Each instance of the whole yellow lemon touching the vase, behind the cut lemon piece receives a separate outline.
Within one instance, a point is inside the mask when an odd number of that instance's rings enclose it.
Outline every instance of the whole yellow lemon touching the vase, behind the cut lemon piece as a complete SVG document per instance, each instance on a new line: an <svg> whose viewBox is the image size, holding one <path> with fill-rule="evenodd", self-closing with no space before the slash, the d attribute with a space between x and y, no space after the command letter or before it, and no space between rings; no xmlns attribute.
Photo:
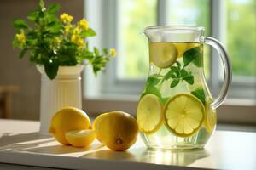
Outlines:
<svg viewBox="0 0 256 170"><path fill-rule="evenodd" d="M83 130L90 127L87 114L75 107L67 107L57 111L51 119L49 133L61 144L68 144L65 133L71 130Z"/></svg>

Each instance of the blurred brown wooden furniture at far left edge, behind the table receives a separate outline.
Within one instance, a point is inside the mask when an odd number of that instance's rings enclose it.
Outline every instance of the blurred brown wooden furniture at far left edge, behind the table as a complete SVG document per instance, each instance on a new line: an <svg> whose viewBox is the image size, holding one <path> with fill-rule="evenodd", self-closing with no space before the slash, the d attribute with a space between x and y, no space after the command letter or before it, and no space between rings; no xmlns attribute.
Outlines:
<svg viewBox="0 0 256 170"><path fill-rule="evenodd" d="M0 118L9 118L11 94L20 91L19 86L0 86Z"/></svg>

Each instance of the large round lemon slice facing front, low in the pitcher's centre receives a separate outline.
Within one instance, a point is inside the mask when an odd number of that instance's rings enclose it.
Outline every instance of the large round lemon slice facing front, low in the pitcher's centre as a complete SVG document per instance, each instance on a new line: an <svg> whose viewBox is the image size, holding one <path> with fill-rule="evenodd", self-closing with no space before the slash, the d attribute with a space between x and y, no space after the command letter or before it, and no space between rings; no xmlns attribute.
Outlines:
<svg viewBox="0 0 256 170"><path fill-rule="evenodd" d="M165 106L166 127L178 137L192 136L204 120L204 105L191 94L177 94Z"/></svg>

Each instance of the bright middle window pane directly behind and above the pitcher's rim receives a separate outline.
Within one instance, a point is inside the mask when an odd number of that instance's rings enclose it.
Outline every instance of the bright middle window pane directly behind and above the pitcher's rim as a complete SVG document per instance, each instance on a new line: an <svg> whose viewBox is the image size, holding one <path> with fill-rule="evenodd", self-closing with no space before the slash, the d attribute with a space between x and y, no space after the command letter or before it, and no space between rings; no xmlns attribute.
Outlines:
<svg viewBox="0 0 256 170"><path fill-rule="evenodd" d="M210 0L169 0L168 25L204 26L205 34L210 36ZM210 76L210 48L204 46L204 70L207 79Z"/></svg>

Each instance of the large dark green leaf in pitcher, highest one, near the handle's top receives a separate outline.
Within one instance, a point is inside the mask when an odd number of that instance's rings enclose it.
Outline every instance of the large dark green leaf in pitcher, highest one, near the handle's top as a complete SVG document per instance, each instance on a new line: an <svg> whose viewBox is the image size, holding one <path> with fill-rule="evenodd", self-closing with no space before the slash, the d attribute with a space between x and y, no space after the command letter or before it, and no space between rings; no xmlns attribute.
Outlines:
<svg viewBox="0 0 256 170"><path fill-rule="evenodd" d="M193 63L198 66L201 67L202 66L202 50L200 47L196 47L196 48L191 48L188 51L186 51L183 54L183 63L184 63L184 67L189 65L190 62Z"/></svg>

